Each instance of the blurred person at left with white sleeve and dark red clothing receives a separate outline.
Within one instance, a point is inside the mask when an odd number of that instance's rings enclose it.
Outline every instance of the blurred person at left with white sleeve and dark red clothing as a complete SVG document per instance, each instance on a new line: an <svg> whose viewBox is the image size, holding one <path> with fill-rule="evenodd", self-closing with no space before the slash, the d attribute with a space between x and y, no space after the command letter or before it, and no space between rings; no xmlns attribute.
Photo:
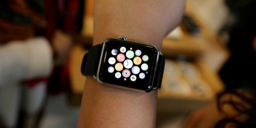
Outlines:
<svg viewBox="0 0 256 128"><path fill-rule="evenodd" d="M58 84L67 82L72 36L81 29L82 12L82 0L0 1L2 127L37 127L47 92L57 93L63 89Z"/></svg>

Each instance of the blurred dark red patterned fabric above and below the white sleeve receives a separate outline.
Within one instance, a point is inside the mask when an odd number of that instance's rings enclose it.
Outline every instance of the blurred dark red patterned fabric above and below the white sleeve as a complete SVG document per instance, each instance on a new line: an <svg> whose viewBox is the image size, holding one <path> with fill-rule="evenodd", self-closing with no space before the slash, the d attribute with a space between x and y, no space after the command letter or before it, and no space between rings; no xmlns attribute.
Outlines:
<svg viewBox="0 0 256 128"><path fill-rule="evenodd" d="M51 41L57 29L75 35L82 28L83 6L84 0L0 0L0 45L36 36ZM22 83L33 87L50 79L49 83L56 84L53 81L69 78L67 65L54 68L51 78L23 80Z"/></svg>

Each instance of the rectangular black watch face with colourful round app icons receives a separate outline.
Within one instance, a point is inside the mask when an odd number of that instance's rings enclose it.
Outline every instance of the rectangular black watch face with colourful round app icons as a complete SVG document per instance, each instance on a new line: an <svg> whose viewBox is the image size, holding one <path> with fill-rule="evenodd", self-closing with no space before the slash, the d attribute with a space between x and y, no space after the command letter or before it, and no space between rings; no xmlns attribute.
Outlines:
<svg viewBox="0 0 256 128"><path fill-rule="evenodd" d="M152 88L158 49L141 43L108 39L104 43L98 79L143 91Z"/></svg>

